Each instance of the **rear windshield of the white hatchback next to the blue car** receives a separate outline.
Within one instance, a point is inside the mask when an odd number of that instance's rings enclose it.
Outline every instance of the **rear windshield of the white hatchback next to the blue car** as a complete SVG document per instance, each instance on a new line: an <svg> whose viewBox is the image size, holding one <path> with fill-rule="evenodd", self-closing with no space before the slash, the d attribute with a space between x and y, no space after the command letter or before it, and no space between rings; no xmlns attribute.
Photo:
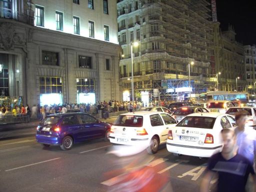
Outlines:
<svg viewBox="0 0 256 192"><path fill-rule="evenodd" d="M119 115L114 121L116 126L136 126L140 127L143 124L143 117L137 115Z"/></svg>

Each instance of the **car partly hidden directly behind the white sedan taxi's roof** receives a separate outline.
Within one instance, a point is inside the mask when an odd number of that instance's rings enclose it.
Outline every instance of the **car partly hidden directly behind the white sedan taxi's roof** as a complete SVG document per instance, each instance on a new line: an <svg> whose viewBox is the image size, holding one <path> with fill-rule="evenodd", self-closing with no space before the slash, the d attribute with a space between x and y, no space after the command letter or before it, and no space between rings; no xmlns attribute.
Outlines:
<svg viewBox="0 0 256 192"><path fill-rule="evenodd" d="M186 115L194 112L209 112L208 109L199 106L182 106L177 108L173 113L172 117L176 120L182 120Z"/></svg>

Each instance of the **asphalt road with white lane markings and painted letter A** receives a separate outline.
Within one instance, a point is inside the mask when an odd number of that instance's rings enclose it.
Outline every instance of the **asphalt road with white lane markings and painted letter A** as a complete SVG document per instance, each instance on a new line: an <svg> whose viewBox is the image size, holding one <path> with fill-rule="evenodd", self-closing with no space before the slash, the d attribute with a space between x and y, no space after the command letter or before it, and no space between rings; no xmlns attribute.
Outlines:
<svg viewBox="0 0 256 192"><path fill-rule="evenodd" d="M140 155L118 157L107 154L112 145L103 139L63 151L58 146L42 147L27 131L21 137L0 140L0 191L110 191L129 171L125 166L141 155L141 167L166 176L173 191L198 191L207 162L205 158L174 156L165 145L153 155L142 151ZM215 184L213 181L212 188Z"/></svg>

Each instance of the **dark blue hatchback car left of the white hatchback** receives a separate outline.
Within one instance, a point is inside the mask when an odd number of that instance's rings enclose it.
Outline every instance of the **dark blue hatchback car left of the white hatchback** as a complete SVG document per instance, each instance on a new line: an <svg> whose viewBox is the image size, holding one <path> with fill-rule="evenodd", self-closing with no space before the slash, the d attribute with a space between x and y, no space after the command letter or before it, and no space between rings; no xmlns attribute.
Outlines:
<svg viewBox="0 0 256 192"><path fill-rule="evenodd" d="M92 138L109 140L111 124L87 113L61 113L46 116L36 128L36 140L43 146L59 145L71 149L73 143Z"/></svg>

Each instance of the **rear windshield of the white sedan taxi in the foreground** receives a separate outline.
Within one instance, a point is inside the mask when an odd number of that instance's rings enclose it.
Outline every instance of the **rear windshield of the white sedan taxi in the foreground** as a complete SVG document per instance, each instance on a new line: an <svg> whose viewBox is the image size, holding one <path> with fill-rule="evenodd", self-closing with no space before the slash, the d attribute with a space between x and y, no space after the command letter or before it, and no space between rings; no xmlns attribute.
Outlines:
<svg viewBox="0 0 256 192"><path fill-rule="evenodd" d="M186 116L176 126L186 126L194 128L212 128L215 122L214 117Z"/></svg>

